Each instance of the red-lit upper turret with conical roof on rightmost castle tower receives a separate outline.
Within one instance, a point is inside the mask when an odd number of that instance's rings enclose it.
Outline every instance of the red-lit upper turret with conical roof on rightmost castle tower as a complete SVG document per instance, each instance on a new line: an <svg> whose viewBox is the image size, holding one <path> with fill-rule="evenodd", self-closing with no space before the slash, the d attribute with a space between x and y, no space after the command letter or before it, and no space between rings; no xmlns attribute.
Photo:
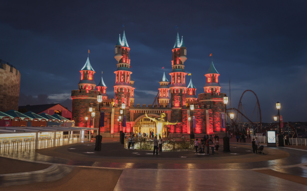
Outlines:
<svg viewBox="0 0 307 191"><path fill-rule="evenodd" d="M204 86L204 90L206 93L211 93L211 95L214 94L219 94L220 92L220 85L218 83L218 76L219 73L216 71L213 62L211 62L211 65L205 74L207 78L207 83Z"/></svg>

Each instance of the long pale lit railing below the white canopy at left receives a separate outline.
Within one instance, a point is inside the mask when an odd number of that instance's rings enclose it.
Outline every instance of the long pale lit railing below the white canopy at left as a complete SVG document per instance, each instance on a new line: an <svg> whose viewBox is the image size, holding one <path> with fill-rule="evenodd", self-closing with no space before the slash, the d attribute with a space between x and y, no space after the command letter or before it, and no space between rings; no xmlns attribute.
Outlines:
<svg viewBox="0 0 307 191"><path fill-rule="evenodd" d="M41 137L38 141L35 138L31 138L28 140L15 139L11 141L2 141L0 142L0 153L2 152L22 152L36 149L44 149L50 147L63 146L74 143L84 143L90 142L91 140L96 140L96 134L84 134L84 136L80 136L80 134L72 134L72 135L62 135L57 136L54 140L53 137Z"/></svg>

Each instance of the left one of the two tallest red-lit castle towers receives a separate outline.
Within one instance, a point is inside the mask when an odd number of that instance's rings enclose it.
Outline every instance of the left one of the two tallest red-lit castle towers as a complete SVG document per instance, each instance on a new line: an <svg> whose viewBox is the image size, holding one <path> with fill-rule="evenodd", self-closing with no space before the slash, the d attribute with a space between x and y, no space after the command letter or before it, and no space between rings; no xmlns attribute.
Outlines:
<svg viewBox="0 0 307 191"><path fill-rule="evenodd" d="M123 39L120 41L120 37L115 45L115 59L117 60L114 92L115 92L115 104L125 103L126 106L130 106L130 94L132 86L130 84L130 56L129 56L129 45L126 40L125 31Z"/></svg>

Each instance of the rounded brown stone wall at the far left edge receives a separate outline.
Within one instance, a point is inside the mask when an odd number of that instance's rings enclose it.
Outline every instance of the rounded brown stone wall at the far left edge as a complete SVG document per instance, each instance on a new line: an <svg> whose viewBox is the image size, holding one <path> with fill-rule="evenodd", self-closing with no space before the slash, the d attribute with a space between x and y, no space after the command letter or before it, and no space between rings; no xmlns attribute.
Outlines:
<svg viewBox="0 0 307 191"><path fill-rule="evenodd" d="M0 68L0 111L18 111L20 72L9 66L2 64Z"/></svg>

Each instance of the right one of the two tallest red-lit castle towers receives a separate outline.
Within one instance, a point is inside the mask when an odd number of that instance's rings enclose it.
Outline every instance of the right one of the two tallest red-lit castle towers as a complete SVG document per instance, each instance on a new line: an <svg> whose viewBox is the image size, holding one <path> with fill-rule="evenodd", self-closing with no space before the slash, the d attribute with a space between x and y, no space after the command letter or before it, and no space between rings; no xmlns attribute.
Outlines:
<svg viewBox="0 0 307 191"><path fill-rule="evenodd" d="M173 48L172 72L171 75L171 107L183 107L186 102L187 86L185 82L184 62L187 57L187 48L183 42L183 37L180 41L179 34Z"/></svg>

